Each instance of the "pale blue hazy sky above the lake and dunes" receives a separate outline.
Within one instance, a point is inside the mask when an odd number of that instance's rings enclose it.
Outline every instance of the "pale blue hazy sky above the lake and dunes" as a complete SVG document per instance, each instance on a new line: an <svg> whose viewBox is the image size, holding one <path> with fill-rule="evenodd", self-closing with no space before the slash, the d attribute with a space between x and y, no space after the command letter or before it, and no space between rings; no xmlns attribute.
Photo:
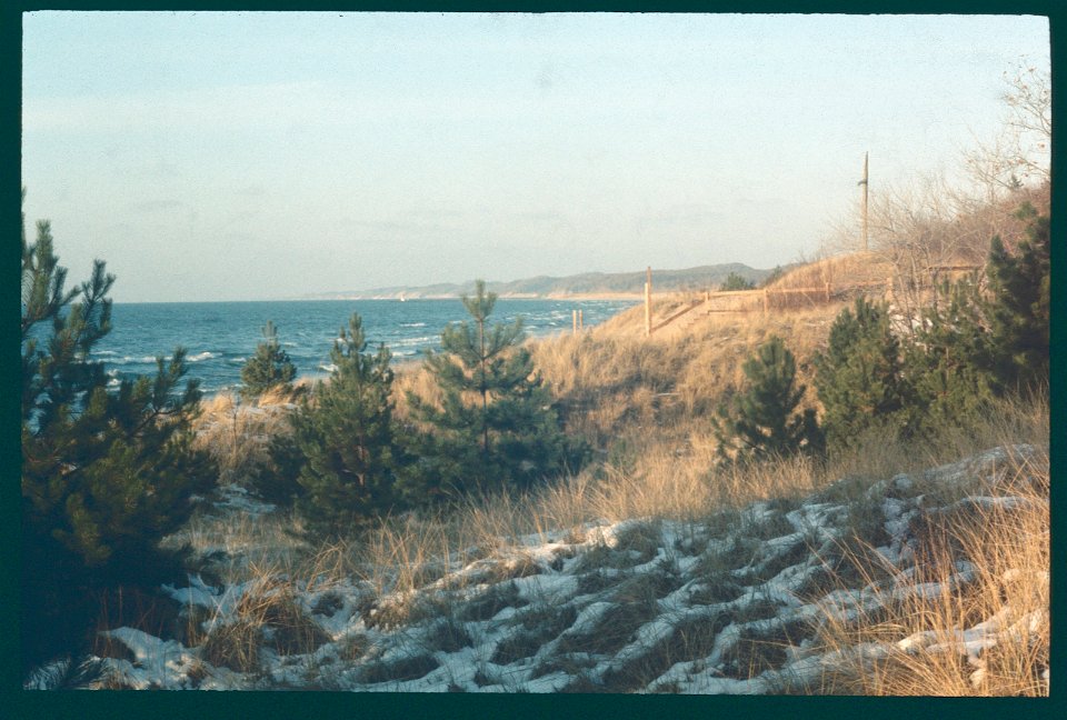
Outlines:
<svg viewBox="0 0 1067 720"><path fill-rule="evenodd" d="M1013 16L30 12L28 233L117 302L811 258L1003 127Z"/></svg>

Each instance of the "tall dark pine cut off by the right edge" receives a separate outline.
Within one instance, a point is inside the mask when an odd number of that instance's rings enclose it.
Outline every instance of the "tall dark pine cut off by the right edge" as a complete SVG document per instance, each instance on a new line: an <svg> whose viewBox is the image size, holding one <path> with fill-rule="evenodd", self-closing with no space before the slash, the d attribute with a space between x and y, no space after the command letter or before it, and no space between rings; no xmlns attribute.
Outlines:
<svg viewBox="0 0 1067 720"><path fill-rule="evenodd" d="M1049 218L1038 214L1029 203L1016 214L1028 221L1027 239L1011 254L995 237L987 266L995 298L988 310L997 349L994 374L1011 391L1048 382L1051 288Z"/></svg>

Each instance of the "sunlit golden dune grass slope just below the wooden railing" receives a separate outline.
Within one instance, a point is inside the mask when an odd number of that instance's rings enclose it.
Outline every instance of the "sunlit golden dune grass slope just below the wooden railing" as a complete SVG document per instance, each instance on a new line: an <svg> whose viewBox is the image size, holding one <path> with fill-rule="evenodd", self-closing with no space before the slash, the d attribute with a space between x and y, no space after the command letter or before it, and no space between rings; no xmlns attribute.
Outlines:
<svg viewBox="0 0 1067 720"><path fill-rule="evenodd" d="M841 303L789 312L704 314L685 334L645 338L640 308L578 336L534 343L534 360L567 430L605 449L616 439L650 434L686 442L707 430L720 402L741 388L745 361L771 336L798 359L797 382L817 403L808 359L826 343Z"/></svg>

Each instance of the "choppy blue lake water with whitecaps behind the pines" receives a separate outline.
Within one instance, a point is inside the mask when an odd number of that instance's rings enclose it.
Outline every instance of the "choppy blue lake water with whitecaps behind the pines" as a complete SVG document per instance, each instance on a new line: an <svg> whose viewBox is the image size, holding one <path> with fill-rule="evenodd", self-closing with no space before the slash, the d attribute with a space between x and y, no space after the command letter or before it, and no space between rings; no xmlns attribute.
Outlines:
<svg viewBox="0 0 1067 720"><path fill-rule="evenodd" d="M635 304L629 300L500 299L490 322L521 317L530 337L571 329L571 312L581 310L587 327ZM462 302L450 300L308 300L266 302L116 303L111 332L93 351L113 382L156 371L156 356L169 357L176 346L187 351L187 377L199 378L206 393L240 383L241 367L262 341L268 320L297 366L298 377L329 374L330 349L352 312L363 320L369 348L383 342L396 360L417 360L439 350L449 322L469 320Z"/></svg>

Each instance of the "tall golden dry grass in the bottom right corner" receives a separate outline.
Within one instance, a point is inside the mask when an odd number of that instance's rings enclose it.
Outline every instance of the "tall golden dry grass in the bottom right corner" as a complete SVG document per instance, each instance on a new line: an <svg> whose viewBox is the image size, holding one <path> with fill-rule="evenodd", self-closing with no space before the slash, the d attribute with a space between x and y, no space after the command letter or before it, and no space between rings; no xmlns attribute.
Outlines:
<svg viewBox="0 0 1067 720"><path fill-rule="evenodd" d="M1026 478L1010 483L1013 503L974 502L927 520L916 572L894 587L882 613L824 629L825 648L844 660L822 691L1048 694L1047 457L1013 470ZM973 578L959 586L961 567Z"/></svg>

